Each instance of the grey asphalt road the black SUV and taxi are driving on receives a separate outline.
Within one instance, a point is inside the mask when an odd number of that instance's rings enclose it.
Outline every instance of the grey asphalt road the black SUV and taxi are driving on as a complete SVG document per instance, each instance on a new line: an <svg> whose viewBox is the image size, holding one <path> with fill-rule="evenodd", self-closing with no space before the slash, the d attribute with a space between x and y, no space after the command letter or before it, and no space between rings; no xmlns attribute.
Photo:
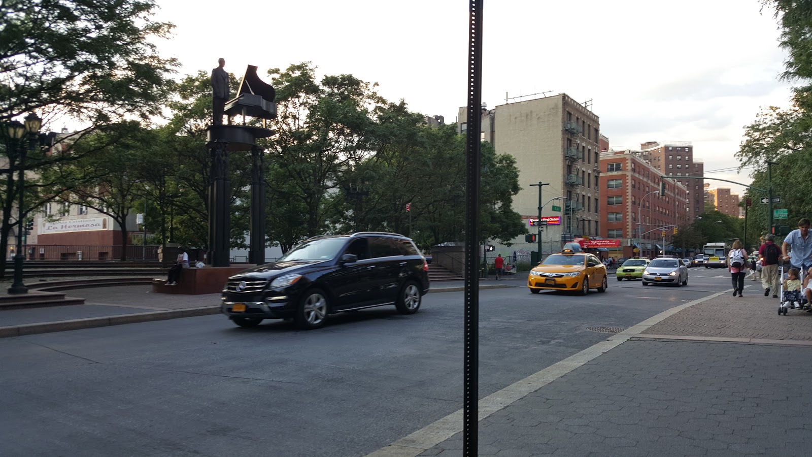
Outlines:
<svg viewBox="0 0 812 457"><path fill-rule="evenodd" d="M481 396L609 336L588 327L730 288L721 270L690 273L680 288L611 278L587 297L483 290ZM462 302L428 294L413 316L366 310L313 331L204 316L6 338L0 455L362 456L462 407Z"/></svg>

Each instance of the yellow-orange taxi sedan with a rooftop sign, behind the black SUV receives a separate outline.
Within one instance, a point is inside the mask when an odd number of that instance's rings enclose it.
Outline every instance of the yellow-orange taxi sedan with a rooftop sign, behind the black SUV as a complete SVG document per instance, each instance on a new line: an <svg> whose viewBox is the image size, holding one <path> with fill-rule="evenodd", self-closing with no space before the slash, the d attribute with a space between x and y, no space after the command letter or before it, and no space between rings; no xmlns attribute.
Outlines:
<svg viewBox="0 0 812 457"><path fill-rule="evenodd" d="M574 290L581 295L607 290L607 268L595 255L579 248L564 245L559 254L548 255L542 263L530 270L527 287L533 294L542 289Z"/></svg>

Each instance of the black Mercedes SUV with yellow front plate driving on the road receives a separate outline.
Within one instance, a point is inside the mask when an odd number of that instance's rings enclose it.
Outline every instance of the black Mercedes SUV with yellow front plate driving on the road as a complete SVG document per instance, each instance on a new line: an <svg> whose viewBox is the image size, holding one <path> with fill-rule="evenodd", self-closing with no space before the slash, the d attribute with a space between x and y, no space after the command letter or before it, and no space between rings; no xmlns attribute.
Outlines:
<svg viewBox="0 0 812 457"><path fill-rule="evenodd" d="M408 237L325 235L229 277L220 311L241 327L292 319L300 329L317 329L341 311L394 304L414 314L428 291L429 265Z"/></svg>

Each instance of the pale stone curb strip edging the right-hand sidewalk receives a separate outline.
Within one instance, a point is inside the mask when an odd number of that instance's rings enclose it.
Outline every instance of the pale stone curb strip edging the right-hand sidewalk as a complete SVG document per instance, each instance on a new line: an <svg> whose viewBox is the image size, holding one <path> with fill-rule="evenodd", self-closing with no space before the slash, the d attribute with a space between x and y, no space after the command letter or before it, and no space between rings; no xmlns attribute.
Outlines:
<svg viewBox="0 0 812 457"><path fill-rule="evenodd" d="M698 298L691 302L681 304L677 307L672 307L666 311L652 316L649 319L642 321L637 325L633 325L623 332L616 333L608 337L603 342L581 350L576 355L571 355L568 358L561 360L558 363L553 363L551 366L544 368L541 371L535 372L530 376L525 377L520 381L508 385L502 390L497 390L493 394L482 398L478 403L479 419L483 420L486 417L494 414L511 403L516 402L520 398L525 398L527 395L541 389L552 381L557 380L559 377L564 376L568 372L581 367L584 363L590 362L597 358L599 355L620 346L624 342L637 337L638 334L650 328L654 324L659 324L660 321L667 317L673 316L676 313L684 310L687 307L692 307L711 298L719 297L719 295L728 294L732 289L723 290L715 294L707 295L703 298ZM389 446L384 446L375 450L366 457L417 457L426 450L437 446L441 442L446 441L448 438L454 436L456 433L462 431L463 410L457 410L428 424L417 432L411 433L406 437L400 438L398 441L391 443Z"/></svg>

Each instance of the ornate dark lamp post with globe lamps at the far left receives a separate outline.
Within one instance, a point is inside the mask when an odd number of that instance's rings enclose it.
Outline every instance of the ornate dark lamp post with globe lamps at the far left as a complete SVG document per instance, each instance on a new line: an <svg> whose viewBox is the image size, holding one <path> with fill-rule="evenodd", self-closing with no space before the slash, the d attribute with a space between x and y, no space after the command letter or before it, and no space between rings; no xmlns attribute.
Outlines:
<svg viewBox="0 0 812 457"><path fill-rule="evenodd" d="M23 216L25 214L23 205L25 197L25 159L27 148L20 145L20 139L24 134L28 134L28 148L34 150L37 146L37 136L40 133L42 120L39 116L31 113L25 117L25 125L19 122L11 123L7 126L8 136L11 138L11 143L19 153L19 161L17 167L19 168L19 178L17 178L19 188L19 202L17 203L17 252L14 256L14 283L8 289L9 294L28 294L28 287L23 284L23 261L25 260L25 253L23 252L23 237L25 233L25 225L23 224Z"/></svg>

